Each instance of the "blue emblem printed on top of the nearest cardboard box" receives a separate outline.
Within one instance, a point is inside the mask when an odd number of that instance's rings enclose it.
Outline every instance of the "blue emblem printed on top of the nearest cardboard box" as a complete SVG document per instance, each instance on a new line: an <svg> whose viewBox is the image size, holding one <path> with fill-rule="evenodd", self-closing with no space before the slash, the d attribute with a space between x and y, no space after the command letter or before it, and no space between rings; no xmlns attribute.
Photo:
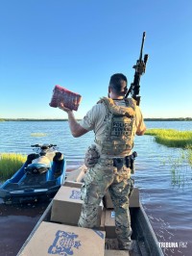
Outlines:
<svg viewBox="0 0 192 256"><path fill-rule="evenodd" d="M78 235L70 232L58 231L54 243L49 247L49 254L73 255L74 248L79 248L82 244L77 241Z"/></svg>

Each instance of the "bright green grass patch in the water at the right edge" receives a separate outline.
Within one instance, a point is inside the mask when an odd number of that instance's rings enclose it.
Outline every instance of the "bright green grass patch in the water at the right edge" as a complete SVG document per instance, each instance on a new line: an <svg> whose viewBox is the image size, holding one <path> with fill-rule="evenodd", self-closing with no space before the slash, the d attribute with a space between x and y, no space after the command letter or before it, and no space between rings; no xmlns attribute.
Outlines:
<svg viewBox="0 0 192 256"><path fill-rule="evenodd" d="M149 129L145 135L155 136L157 143L171 147L191 147L192 131L177 131L174 129Z"/></svg>

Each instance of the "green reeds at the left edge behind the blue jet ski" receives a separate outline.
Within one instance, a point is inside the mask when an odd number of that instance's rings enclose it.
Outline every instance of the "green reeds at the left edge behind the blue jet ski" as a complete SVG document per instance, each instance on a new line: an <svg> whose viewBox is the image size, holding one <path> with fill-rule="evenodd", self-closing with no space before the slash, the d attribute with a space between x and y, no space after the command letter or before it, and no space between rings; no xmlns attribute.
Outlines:
<svg viewBox="0 0 192 256"><path fill-rule="evenodd" d="M27 156L15 153L2 153L0 155L0 180L5 181L12 177L26 161Z"/></svg>

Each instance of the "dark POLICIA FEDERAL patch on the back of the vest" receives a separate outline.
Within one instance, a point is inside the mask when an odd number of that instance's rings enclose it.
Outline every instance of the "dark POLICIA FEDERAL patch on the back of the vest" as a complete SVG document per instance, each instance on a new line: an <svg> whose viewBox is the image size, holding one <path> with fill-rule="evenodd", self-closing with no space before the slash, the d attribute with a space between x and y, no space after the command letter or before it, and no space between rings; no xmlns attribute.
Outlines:
<svg viewBox="0 0 192 256"><path fill-rule="evenodd" d="M122 137L132 135L132 119L126 116L114 116L111 122L111 136Z"/></svg>

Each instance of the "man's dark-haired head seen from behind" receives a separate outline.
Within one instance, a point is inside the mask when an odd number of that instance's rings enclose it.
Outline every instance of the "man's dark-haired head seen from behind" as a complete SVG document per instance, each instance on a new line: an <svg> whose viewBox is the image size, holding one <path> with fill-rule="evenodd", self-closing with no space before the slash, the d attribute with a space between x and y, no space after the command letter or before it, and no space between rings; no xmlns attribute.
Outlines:
<svg viewBox="0 0 192 256"><path fill-rule="evenodd" d="M108 94L116 97L124 97L127 92L127 77L121 73L113 74L108 85Z"/></svg>

